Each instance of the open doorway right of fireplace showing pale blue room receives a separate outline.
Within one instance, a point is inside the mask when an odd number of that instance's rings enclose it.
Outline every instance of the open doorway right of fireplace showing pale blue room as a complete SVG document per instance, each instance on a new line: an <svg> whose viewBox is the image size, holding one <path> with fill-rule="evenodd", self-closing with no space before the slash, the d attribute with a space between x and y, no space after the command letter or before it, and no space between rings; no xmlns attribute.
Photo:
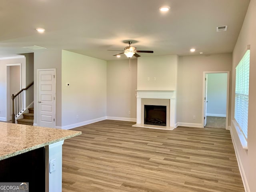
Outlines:
<svg viewBox="0 0 256 192"><path fill-rule="evenodd" d="M228 129L229 71L204 72L202 126Z"/></svg>

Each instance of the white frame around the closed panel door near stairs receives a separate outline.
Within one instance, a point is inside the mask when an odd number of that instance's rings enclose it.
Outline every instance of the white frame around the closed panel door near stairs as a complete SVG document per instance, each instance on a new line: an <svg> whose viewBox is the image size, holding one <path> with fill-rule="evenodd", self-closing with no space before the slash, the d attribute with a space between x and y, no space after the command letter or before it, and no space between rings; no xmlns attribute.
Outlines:
<svg viewBox="0 0 256 192"><path fill-rule="evenodd" d="M39 126L39 71L54 71L54 128L56 128L56 68L48 68L48 69L37 69L36 70L36 79L37 79L37 89L36 89L36 115L37 115L37 126Z"/></svg>

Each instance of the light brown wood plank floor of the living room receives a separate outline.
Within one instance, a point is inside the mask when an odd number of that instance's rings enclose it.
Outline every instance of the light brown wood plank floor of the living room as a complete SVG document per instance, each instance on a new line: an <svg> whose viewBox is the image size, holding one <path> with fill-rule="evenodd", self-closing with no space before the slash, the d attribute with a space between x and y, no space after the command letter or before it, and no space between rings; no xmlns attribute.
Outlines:
<svg viewBox="0 0 256 192"><path fill-rule="evenodd" d="M104 120L64 141L62 192L244 192L230 132Z"/></svg>

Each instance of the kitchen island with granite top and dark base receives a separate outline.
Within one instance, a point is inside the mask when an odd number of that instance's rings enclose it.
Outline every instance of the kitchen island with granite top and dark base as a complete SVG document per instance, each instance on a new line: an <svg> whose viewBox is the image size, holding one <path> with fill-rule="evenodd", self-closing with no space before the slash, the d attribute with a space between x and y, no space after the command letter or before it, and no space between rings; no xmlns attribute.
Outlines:
<svg viewBox="0 0 256 192"><path fill-rule="evenodd" d="M30 191L61 192L62 144L80 134L0 122L0 183L27 182Z"/></svg>

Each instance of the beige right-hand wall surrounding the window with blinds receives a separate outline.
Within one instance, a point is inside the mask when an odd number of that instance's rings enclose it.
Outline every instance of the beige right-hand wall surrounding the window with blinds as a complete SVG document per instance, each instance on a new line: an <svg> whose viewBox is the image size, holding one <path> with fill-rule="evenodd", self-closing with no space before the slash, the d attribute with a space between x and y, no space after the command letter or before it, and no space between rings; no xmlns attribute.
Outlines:
<svg viewBox="0 0 256 192"><path fill-rule="evenodd" d="M232 120L234 120L234 97L235 97L235 74L236 66L246 51L248 44L251 46L250 51L250 88L249 88L249 109L248 109L248 150L244 150L238 138L238 134L234 125L231 123L231 133L236 154L238 156L238 164L241 168L242 177L248 182L246 188L250 188L250 192L256 191L256 0L251 0L248 7L246 17L240 35L233 51L232 66Z"/></svg>

